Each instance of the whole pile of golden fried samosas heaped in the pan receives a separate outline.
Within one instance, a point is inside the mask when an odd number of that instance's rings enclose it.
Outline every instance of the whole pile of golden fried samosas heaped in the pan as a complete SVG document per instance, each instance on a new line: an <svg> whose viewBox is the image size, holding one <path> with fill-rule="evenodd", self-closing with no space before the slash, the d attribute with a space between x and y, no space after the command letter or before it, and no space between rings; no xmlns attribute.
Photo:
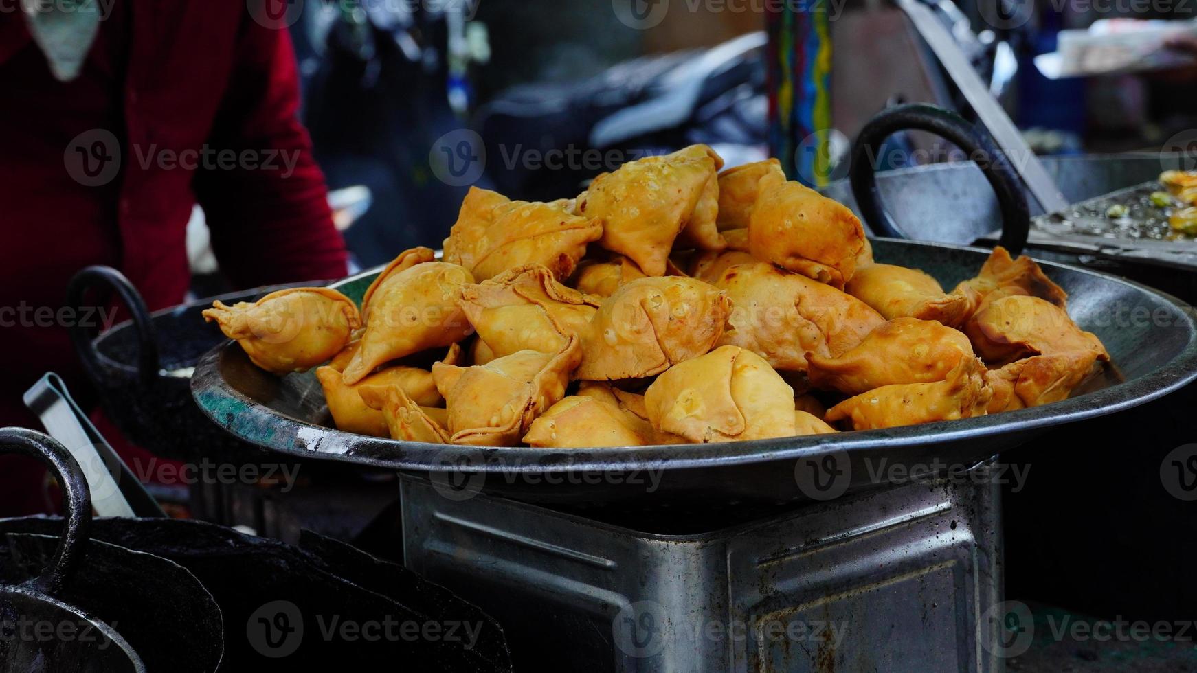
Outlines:
<svg viewBox="0 0 1197 673"><path fill-rule="evenodd" d="M360 311L324 288L205 312L277 374L316 369L338 428L588 447L968 418L1064 399L1110 359L998 247L952 292L873 261L859 220L777 160L694 145L576 198L470 189Z"/></svg>

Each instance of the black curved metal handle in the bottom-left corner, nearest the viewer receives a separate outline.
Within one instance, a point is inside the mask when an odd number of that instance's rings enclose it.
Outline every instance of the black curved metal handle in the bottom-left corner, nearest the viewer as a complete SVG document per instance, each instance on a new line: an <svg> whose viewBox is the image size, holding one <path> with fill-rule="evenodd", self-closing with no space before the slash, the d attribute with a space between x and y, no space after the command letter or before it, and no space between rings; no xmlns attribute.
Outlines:
<svg viewBox="0 0 1197 673"><path fill-rule="evenodd" d="M54 594L71 576L91 539L91 490L71 452L54 438L25 428L0 428L0 454L35 458L49 467L62 487L66 528L45 570L32 580L37 591Z"/></svg>

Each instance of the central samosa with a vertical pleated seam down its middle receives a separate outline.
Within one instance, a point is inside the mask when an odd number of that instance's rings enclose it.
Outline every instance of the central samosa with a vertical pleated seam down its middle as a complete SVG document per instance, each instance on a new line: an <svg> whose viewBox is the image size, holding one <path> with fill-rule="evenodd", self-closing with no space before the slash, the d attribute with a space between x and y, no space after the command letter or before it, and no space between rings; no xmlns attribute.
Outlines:
<svg viewBox="0 0 1197 673"><path fill-rule="evenodd" d="M591 381L660 374L711 350L731 305L703 281L661 276L632 281L608 296L582 330L582 366Z"/></svg>

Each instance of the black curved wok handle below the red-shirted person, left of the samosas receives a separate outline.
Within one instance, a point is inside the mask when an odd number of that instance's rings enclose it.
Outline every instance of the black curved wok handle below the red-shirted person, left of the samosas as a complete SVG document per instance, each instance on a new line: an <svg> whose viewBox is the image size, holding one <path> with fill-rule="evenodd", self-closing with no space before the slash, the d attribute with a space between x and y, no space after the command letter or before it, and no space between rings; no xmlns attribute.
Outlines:
<svg viewBox="0 0 1197 673"><path fill-rule="evenodd" d="M111 267L87 267L75 274L67 285L67 306L75 311L75 316L80 316L84 295L96 286L115 289L133 316L133 325L138 334L138 380L141 384L150 384L158 377L162 366L158 360L158 339L145 300L124 274ZM71 325L71 343L93 384L101 384L109 378L110 374L99 366L91 332L79 320Z"/></svg>

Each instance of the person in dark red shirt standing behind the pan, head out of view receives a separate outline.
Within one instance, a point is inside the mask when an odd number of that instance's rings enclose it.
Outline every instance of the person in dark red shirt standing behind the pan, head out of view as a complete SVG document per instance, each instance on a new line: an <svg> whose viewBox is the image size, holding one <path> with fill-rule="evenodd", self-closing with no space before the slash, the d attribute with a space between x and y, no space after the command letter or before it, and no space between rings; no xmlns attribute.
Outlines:
<svg viewBox="0 0 1197 673"><path fill-rule="evenodd" d="M84 267L180 304L196 202L238 288L344 276L346 252L297 118L285 0L26 5L0 11L0 426L41 429L22 393L47 371L85 383L37 312ZM41 509L37 473L0 458L0 516Z"/></svg>

